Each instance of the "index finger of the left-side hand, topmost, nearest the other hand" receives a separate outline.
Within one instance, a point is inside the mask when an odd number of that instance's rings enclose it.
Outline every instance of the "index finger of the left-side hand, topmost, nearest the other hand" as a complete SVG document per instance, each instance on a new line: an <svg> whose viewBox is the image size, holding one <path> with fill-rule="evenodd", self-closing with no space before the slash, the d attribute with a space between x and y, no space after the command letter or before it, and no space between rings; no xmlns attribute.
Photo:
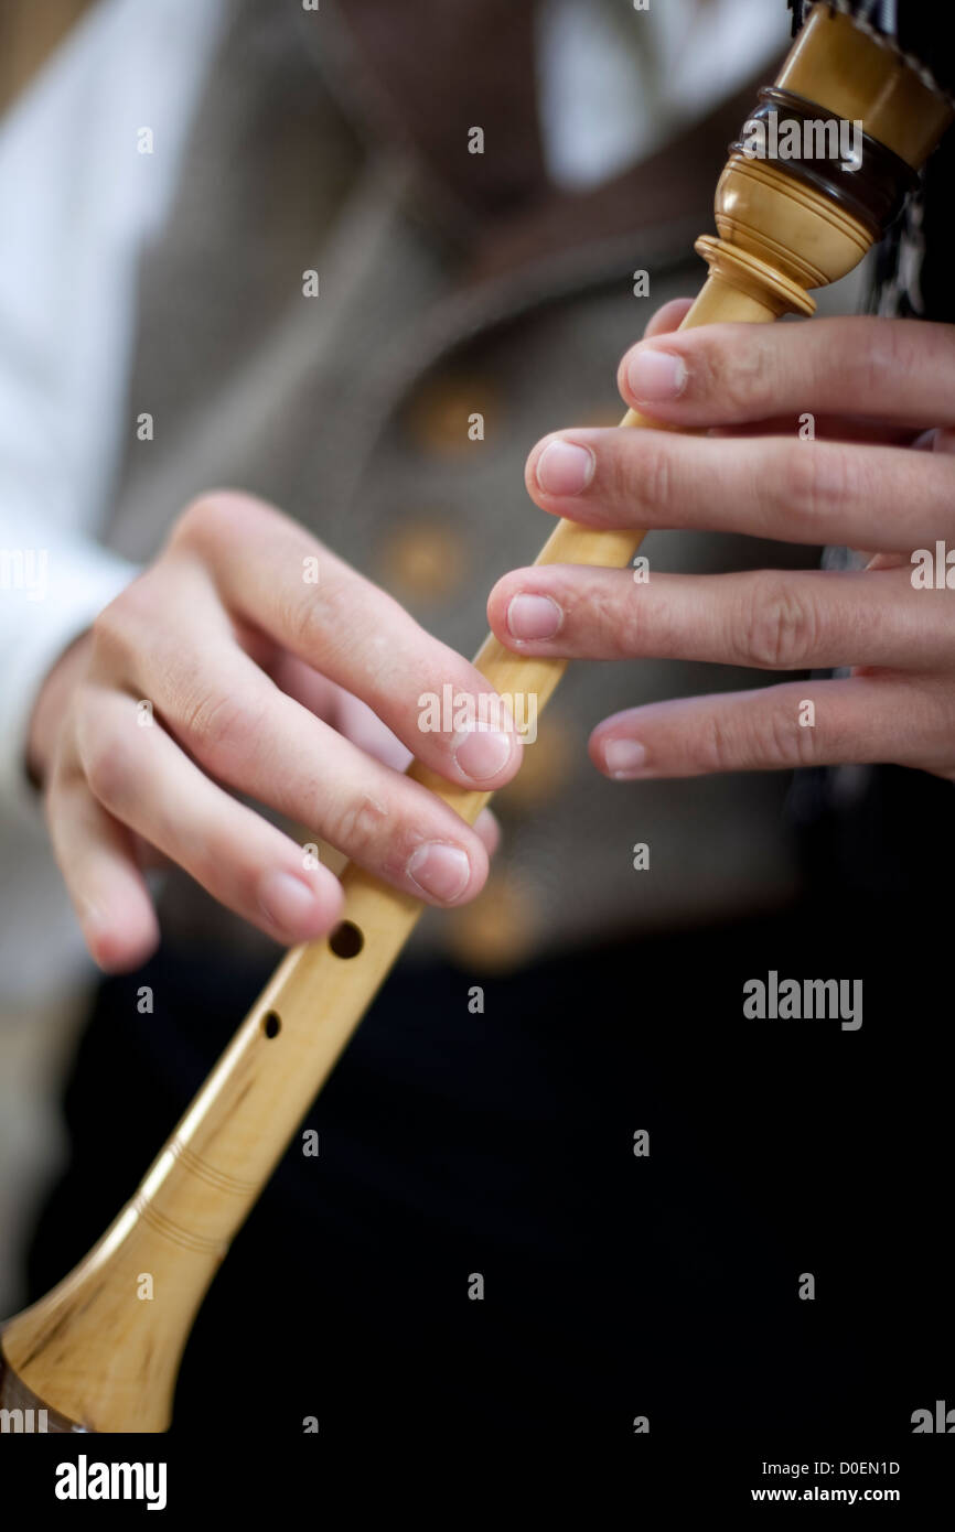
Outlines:
<svg viewBox="0 0 955 1532"><path fill-rule="evenodd" d="M359 696L425 764L466 786L514 777L520 738L484 677L296 522L248 496L212 495L182 519L178 544L204 555L230 610ZM446 696L464 699L445 712L471 725L431 731L422 719Z"/></svg>

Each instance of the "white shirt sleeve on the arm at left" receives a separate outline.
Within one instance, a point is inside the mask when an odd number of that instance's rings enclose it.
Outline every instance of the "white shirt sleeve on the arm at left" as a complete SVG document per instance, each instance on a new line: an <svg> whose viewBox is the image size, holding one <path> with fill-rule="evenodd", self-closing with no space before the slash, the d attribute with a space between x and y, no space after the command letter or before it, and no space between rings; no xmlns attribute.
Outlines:
<svg viewBox="0 0 955 1532"><path fill-rule="evenodd" d="M0 119L0 1003L52 997L81 958L26 732L51 665L138 573L98 538L149 411L127 401L139 257L227 17L97 0Z"/></svg>

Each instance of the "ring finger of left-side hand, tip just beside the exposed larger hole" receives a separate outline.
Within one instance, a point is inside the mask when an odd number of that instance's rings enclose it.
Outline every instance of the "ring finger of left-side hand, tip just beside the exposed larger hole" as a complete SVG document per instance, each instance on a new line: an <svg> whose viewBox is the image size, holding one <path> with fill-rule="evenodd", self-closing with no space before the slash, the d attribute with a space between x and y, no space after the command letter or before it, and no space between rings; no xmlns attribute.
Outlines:
<svg viewBox="0 0 955 1532"><path fill-rule="evenodd" d="M218 787L120 692L77 709L77 749L95 800L184 867L219 904L284 944L340 916L342 890L287 835Z"/></svg>

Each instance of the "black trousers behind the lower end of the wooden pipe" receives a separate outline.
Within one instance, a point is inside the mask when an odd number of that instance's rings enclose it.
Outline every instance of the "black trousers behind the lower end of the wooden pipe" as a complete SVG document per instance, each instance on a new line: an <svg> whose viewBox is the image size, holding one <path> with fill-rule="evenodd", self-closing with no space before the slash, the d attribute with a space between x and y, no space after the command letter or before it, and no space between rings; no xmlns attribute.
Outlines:
<svg viewBox="0 0 955 1532"><path fill-rule="evenodd" d="M259 1432L316 1416L342 1442L613 1440L638 1416L909 1432L952 1380L950 1003L930 962L912 990L917 939L944 938L911 904L814 902L507 977L400 965L305 1124L319 1157L296 1137L210 1290L173 1429L254 1399ZM768 970L863 977L863 1026L745 1019ZM132 1192L264 977L164 950L101 985L34 1296Z"/></svg>

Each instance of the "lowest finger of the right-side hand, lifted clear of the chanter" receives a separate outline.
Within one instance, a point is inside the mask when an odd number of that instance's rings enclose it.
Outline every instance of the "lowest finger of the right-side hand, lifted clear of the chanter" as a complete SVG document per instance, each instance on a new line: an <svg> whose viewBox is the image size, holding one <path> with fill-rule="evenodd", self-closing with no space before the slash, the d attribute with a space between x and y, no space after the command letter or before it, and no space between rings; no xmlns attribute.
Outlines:
<svg viewBox="0 0 955 1532"><path fill-rule="evenodd" d="M618 712L593 731L589 752L618 781L845 761L934 771L950 763L953 723L950 686L891 674L788 682Z"/></svg>

